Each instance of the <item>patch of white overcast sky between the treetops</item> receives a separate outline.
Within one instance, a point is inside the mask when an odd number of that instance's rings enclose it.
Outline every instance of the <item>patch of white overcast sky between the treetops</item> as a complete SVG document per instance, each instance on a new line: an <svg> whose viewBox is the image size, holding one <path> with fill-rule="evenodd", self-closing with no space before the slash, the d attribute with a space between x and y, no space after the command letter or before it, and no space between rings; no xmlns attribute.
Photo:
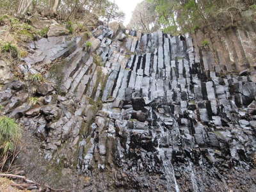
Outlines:
<svg viewBox="0 0 256 192"><path fill-rule="evenodd" d="M122 10L125 13L125 26L129 23L132 17L132 11L135 9L136 5L141 1L143 0L115 0L115 3L118 4L120 10Z"/></svg>

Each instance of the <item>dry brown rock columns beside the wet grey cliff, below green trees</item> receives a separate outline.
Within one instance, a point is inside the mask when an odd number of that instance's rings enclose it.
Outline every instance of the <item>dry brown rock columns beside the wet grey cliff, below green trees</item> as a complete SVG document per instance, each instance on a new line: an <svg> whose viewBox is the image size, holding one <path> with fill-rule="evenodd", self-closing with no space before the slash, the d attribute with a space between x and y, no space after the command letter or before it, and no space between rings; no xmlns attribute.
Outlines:
<svg viewBox="0 0 256 192"><path fill-rule="evenodd" d="M203 60L211 59L204 65L205 70L255 72L255 31L255 22L244 22L219 30L210 27L196 30L193 34L195 49ZM209 45L203 46L205 40Z"/></svg>

